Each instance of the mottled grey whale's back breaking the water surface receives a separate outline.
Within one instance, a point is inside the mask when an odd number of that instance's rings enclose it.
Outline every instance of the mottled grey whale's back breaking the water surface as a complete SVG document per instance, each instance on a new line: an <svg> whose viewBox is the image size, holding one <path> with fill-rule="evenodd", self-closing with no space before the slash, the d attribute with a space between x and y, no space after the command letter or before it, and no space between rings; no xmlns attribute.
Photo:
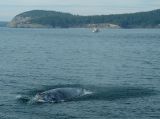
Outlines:
<svg viewBox="0 0 160 119"><path fill-rule="evenodd" d="M55 88L44 92L37 93L30 99L30 103L59 103L74 100L93 92L83 88Z"/></svg>

